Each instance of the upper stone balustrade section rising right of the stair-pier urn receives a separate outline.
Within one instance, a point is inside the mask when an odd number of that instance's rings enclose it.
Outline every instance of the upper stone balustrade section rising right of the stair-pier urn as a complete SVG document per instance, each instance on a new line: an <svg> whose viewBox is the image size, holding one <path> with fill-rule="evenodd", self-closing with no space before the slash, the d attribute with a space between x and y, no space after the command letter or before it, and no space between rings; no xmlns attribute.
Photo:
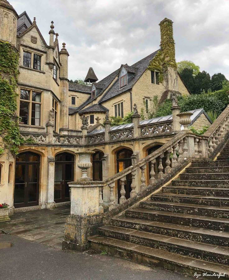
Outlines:
<svg viewBox="0 0 229 280"><path fill-rule="evenodd" d="M208 152L213 153L229 131L229 105L222 111L203 136L208 137Z"/></svg>

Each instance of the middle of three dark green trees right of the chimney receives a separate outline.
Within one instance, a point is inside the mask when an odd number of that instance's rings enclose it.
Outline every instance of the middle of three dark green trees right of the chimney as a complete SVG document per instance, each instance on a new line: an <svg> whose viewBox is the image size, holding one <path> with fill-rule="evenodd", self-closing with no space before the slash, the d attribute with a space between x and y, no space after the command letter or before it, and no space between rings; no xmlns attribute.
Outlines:
<svg viewBox="0 0 229 280"><path fill-rule="evenodd" d="M206 71L199 72L195 78L194 94L208 92L211 89L211 77Z"/></svg>

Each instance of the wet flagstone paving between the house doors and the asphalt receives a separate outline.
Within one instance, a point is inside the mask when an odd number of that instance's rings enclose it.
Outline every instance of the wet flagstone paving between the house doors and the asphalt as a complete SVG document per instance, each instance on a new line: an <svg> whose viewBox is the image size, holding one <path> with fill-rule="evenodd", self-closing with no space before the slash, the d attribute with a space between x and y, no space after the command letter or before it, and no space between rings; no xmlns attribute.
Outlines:
<svg viewBox="0 0 229 280"><path fill-rule="evenodd" d="M65 220L69 214L69 205L53 210L15 213L10 222L0 223L0 231L61 249Z"/></svg>

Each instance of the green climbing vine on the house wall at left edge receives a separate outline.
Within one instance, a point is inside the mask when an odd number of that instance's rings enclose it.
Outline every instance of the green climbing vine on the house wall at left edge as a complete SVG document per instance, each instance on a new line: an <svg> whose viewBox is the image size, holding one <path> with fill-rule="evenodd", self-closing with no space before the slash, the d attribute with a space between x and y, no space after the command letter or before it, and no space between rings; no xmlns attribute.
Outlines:
<svg viewBox="0 0 229 280"><path fill-rule="evenodd" d="M0 154L9 149L16 156L20 144L25 141L19 132L16 114L16 82L18 76L18 52L8 42L0 41Z"/></svg>

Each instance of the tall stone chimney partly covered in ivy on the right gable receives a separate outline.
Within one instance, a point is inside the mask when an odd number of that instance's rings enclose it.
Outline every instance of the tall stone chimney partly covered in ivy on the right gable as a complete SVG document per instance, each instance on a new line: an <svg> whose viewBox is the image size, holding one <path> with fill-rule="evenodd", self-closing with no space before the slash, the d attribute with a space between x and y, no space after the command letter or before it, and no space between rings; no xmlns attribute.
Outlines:
<svg viewBox="0 0 229 280"><path fill-rule="evenodd" d="M159 24L161 30L161 50L163 63L164 91L178 91L178 74L175 60L175 42L173 39L173 22L164 18Z"/></svg>

